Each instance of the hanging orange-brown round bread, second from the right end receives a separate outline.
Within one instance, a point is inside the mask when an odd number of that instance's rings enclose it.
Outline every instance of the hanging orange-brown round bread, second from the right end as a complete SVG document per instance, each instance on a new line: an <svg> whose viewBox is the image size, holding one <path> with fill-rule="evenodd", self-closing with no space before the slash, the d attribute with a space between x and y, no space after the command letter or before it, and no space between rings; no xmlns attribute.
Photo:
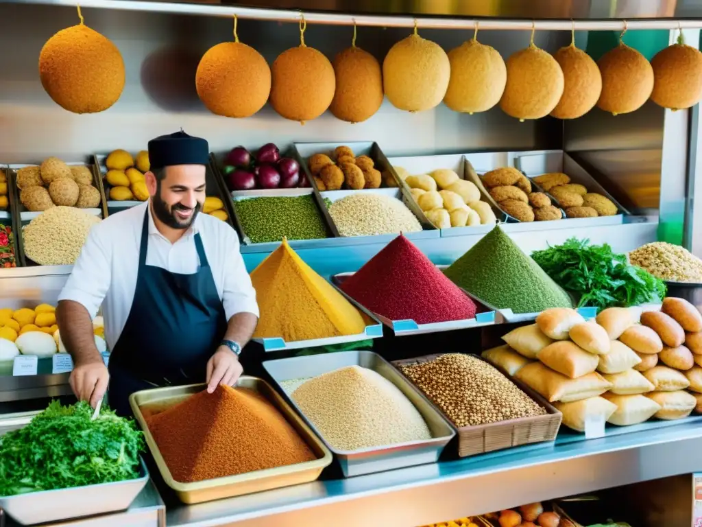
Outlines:
<svg viewBox="0 0 702 527"><path fill-rule="evenodd" d="M619 39L616 48L597 60L602 74L602 93L597 108L612 115L641 108L654 89L654 70L646 57Z"/></svg>

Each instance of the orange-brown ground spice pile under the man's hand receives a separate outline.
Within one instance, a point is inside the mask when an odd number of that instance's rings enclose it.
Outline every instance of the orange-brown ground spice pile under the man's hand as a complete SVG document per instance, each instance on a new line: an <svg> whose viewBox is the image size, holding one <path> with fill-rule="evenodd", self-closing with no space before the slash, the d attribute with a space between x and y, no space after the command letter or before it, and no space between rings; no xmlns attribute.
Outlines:
<svg viewBox="0 0 702 527"><path fill-rule="evenodd" d="M180 483L315 459L285 417L244 388L201 391L147 417L147 424L171 476Z"/></svg>

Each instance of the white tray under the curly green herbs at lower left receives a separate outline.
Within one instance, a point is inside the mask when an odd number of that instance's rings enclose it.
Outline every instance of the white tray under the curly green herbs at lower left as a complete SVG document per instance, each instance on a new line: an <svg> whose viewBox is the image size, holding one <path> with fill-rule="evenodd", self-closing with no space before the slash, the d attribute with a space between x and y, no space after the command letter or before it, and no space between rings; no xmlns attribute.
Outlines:
<svg viewBox="0 0 702 527"><path fill-rule="evenodd" d="M0 417L0 435L24 427L39 412ZM137 479L0 497L0 509L22 525L36 525L128 509L149 481L141 461Z"/></svg>

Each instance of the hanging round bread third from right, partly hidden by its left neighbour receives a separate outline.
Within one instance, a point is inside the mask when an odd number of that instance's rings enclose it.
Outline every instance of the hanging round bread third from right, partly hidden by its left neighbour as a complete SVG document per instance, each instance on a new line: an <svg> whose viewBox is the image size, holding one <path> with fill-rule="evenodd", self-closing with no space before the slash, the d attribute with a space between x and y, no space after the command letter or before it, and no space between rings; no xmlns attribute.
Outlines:
<svg viewBox="0 0 702 527"><path fill-rule="evenodd" d="M600 98L600 68L588 53L576 48L575 36L570 46L560 48L553 58L563 72L563 95L551 115L557 119L576 119L585 115Z"/></svg>

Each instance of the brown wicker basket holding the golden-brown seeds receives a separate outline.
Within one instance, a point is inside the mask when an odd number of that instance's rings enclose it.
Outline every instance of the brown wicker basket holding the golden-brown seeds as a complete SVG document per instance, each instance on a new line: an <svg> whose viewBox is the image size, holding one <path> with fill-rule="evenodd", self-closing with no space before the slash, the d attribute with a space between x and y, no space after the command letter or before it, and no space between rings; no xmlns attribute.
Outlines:
<svg viewBox="0 0 702 527"><path fill-rule="evenodd" d="M399 366L426 363L442 355L445 355L445 353L395 360L392 364L399 370ZM483 360L478 356L475 357ZM503 450L504 448L528 445L530 443L554 441L558 434L558 429L561 426L561 419L563 417L561 412L556 410L552 404L536 393L536 391L519 381L519 379L510 377L498 366L492 366L496 367L505 377L516 384L520 390L527 393L529 397L536 401L536 403L548 413L535 417L519 417L519 419L510 419L508 421L479 424L475 427L456 427L456 431L458 431L458 455L466 457L469 455L494 452L494 450ZM402 372L402 370L400 370L400 372ZM446 417L438 406L437 410ZM449 417L446 417L446 419L449 419ZM451 419L449 419L449 422L450 421ZM455 427L455 425L453 426Z"/></svg>

